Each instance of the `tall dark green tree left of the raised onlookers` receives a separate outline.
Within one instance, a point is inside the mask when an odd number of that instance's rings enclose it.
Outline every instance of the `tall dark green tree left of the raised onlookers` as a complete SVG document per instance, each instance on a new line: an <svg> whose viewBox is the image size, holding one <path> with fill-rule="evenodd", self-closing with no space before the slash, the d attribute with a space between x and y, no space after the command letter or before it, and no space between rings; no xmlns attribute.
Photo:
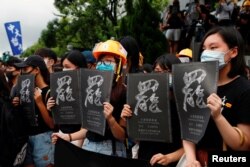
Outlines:
<svg viewBox="0 0 250 167"><path fill-rule="evenodd" d="M154 60L167 51L167 41L160 32L159 13L150 5L148 0L126 1L127 16L121 21L120 35L133 36L141 48L145 63Z"/></svg>

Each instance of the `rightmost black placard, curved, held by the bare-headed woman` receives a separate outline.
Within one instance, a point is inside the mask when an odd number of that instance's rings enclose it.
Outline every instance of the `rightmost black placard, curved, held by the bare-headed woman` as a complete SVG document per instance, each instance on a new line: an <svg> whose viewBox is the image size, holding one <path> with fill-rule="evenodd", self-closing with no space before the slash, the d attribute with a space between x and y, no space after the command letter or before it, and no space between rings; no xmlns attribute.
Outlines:
<svg viewBox="0 0 250 167"><path fill-rule="evenodd" d="M172 68L182 138L198 143L210 118L207 97L217 91L218 62L174 64Z"/></svg>

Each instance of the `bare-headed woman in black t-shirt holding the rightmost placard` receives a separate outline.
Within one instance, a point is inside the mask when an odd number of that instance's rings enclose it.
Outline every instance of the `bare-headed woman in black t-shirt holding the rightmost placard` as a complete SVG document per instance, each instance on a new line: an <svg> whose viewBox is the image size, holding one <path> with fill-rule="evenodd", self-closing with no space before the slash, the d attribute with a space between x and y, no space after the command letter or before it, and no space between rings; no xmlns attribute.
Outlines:
<svg viewBox="0 0 250 167"><path fill-rule="evenodd" d="M199 151L250 150L250 83L243 47L242 36L234 27L215 27L201 43L200 61L219 62L218 89L207 98L211 117L201 141L195 145L183 140L187 167L210 166L206 154L196 154Z"/></svg>

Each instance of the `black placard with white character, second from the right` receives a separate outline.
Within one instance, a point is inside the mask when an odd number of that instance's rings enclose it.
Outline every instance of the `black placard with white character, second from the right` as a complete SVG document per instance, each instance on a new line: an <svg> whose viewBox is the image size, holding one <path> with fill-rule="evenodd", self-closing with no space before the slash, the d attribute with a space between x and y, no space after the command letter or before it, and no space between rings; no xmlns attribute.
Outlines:
<svg viewBox="0 0 250 167"><path fill-rule="evenodd" d="M127 121L135 140L172 142L168 74L129 74L127 103L133 116Z"/></svg>

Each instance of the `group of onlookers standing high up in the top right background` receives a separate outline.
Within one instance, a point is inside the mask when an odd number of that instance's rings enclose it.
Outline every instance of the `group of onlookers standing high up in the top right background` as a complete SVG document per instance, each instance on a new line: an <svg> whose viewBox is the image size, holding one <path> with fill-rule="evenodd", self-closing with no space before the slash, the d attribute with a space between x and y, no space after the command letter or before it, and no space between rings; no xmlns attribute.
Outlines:
<svg viewBox="0 0 250 167"><path fill-rule="evenodd" d="M191 0L180 10L179 0L174 0L162 13L160 30L166 36L169 52L176 54L189 48L192 40L201 42L205 33L213 26L235 26L244 38L250 52L250 2L245 0L238 6L234 0L218 0L215 6Z"/></svg>

